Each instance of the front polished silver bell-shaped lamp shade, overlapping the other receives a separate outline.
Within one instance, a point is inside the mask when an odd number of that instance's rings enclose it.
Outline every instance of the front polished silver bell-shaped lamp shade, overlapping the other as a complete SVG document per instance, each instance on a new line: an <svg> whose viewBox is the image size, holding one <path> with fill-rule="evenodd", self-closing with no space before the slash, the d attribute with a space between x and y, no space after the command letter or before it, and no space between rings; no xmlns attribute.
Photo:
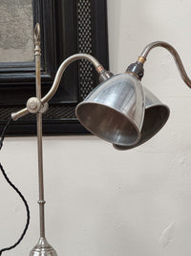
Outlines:
<svg viewBox="0 0 191 256"><path fill-rule="evenodd" d="M140 139L144 93L138 79L120 74L103 81L76 107L79 122L96 136L119 146Z"/></svg>

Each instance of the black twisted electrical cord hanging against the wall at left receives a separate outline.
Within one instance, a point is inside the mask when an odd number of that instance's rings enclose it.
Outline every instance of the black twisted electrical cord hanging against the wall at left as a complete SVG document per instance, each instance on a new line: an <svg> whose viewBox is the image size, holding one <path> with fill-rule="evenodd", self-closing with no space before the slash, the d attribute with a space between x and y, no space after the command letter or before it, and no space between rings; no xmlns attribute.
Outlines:
<svg viewBox="0 0 191 256"><path fill-rule="evenodd" d="M3 141L4 141L4 138L5 138L5 134L6 134L7 129L9 128L10 123L11 123L11 118L9 119L8 123L6 124L6 126L3 128L3 131L2 131L2 134L1 134L1 140L0 140L0 150L3 147ZM8 175L6 175L6 172L5 172L5 170L4 170L4 168L3 168L1 163L0 163L0 170L1 170L2 174L4 175L5 179L7 180L7 182L11 185L11 187L16 191L16 193L19 195L19 197L23 200L23 202L25 204L25 207L26 207L26 211L27 211L27 222L26 222L25 228L24 228L20 238L17 240L17 242L15 244L12 244L9 247L5 247L3 249L0 249L0 255L1 255L3 251L11 250L16 245L20 244L20 242L23 240L23 238L24 238L24 236L25 236L25 234L27 232L27 229L29 227L29 223L30 223L30 208L29 208L29 205L28 205L28 202L27 202L26 198L24 198L22 193L14 186L14 184L12 184L12 182L11 182L10 178L8 177Z"/></svg>

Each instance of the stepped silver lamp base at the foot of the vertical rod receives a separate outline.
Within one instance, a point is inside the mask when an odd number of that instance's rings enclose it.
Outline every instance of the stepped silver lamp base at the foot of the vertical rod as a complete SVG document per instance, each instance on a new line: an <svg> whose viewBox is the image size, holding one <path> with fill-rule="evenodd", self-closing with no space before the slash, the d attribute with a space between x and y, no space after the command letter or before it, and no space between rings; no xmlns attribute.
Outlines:
<svg viewBox="0 0 191 256"><path fill-rule="evenodd" d="M57 253L46 238L40 238L38 244L32 248L30 256L57 256Z"/></svg>

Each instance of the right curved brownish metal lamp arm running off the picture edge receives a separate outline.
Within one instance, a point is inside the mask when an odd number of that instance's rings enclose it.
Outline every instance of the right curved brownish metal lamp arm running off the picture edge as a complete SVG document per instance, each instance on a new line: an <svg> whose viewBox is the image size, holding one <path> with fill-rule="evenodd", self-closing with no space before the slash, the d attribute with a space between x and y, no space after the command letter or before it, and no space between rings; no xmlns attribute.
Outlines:
<svg viewBox="0 0 191 256"><path fill-rule="evenodd" d="M142 51L140 57L138 58L138 62L143 64L146 61L146 58L147 58L148 54L150 53L150 51L156 47L163 47L171 53L171 55L173 56L173 58L177 64L177 67L179 69L181 79L188 85L188 87L191 88L191 80L189 79L189 77L187 76L187 74L185 72L185 69L181 62L180 55L178 54L176 49L167 42L156 41L156 42L152 42L152 43L148 44Z"/></svg>

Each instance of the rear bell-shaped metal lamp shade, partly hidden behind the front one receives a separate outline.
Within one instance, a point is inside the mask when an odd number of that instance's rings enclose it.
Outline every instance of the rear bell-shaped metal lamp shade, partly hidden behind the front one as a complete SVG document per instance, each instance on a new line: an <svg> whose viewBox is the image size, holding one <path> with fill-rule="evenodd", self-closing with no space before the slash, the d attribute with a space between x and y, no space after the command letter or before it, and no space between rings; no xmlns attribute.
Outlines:
<svg viewBox="0 0 191 256"><path fill-rule="evenodd" d="M168 120L170 114L169 107L167 105L163 105L148 89L144 88L144 92L145 114L141 129L141 138L137 144L129 147L114 144L114 147L117 150L125 151L138 147L158 133L160 128L162 128Z"/></svg>

